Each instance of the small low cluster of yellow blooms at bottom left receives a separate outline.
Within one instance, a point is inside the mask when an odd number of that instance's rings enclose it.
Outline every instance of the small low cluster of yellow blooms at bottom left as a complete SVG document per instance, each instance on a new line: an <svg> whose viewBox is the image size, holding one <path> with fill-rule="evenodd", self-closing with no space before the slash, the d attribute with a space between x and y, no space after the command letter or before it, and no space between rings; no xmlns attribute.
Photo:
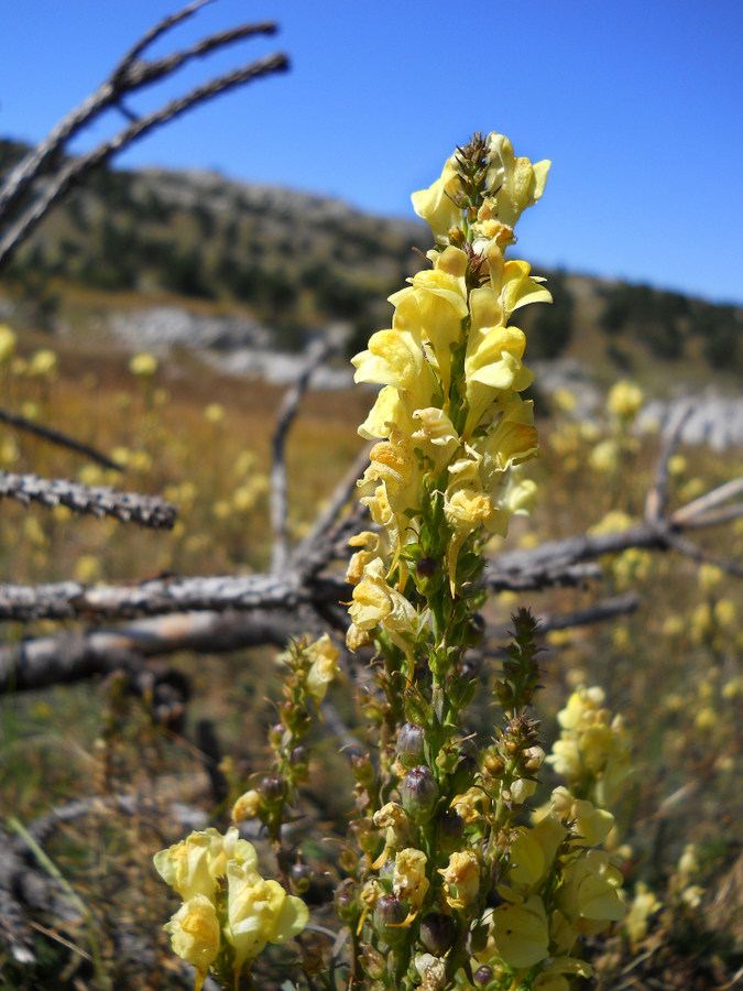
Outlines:
<svg viewBox="0 0 743 991"><path fill-rule="evenodd" d="M266 943L285 943L308 922L305 903L258 872L254 847L232 827L192 832L155 854L157 872L183 899L165 929L174 951L196 968L195 991L210 967L234 974Z"/></svg>

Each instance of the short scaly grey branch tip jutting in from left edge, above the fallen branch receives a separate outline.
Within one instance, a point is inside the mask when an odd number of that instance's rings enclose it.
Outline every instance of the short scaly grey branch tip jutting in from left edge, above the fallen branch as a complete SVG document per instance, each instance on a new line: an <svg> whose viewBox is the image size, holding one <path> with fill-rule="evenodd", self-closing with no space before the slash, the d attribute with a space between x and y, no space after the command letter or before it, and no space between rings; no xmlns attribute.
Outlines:
<svg viewBox="0 0 743 991"><path fill-rule="evenodd" d="M175 523L175 507L159 496L117 492L108 486L84 486L65 478L40 478L0 471L0 499L9 498L29 505L66 505L76 513L113 516L122 523L139 523L155 530L170 530Z"/></svg>

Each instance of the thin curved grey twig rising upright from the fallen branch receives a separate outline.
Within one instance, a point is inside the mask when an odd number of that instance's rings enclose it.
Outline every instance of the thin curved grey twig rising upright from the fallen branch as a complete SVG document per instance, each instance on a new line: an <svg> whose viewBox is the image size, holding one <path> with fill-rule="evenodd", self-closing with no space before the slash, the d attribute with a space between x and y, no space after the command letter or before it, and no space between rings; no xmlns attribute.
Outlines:
<svg viewBox="0 0 743 991"><path fill-rule="evenodd" d="M302 398L307 391L313 372L327 359L332 346L319 337L307 348L305 364L296 382L286 390L276 417L276 426L271 444L271 526L273 544L271 548L271 574L280 575L289 558L286 518L288 511L285 445L286 435L294 423Z"/></svg>

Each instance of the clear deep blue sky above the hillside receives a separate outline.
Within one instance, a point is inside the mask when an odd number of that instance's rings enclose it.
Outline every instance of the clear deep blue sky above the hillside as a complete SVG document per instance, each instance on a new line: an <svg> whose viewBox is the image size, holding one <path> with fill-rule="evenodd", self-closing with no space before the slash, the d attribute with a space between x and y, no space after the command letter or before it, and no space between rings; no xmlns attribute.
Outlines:
<svg viewBox="0 0 743 991"><path fill-rule="evenodd" d="M0 134L41 139L177 9L3 4ZM498 130L516 154L554 162L518 228L517 251L535 265L743 303L741 0L217 0L154 53L266 18L278 36L201 63L177 87L277 48L288 75L186 115L114 164L214 168L412 217L409 194L454 146Z"/></svg>

